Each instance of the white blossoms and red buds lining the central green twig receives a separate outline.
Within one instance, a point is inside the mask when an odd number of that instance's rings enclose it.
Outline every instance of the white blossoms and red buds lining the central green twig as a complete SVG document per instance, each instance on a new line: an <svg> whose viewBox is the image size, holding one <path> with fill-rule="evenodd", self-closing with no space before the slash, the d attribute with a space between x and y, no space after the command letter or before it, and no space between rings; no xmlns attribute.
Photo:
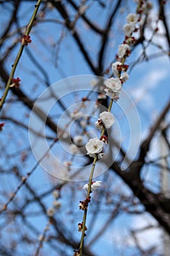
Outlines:
<svg viewBox="0 0 170 256"><path fill-rule="evenodd" d="M130 13L127 17L127 23L123 26L123 32L124 32L124 40L123 43L119 45L118 52L117 52L117 60L112 63L112 72L113 77L107 79L104 82L105 86L105 94L99 94L98 95L98 102L99 100L105 99L106 97L111 98L111 104L109 105L108 111L104 111L99 114L99 118L96 121L96 128L101 130L101 138L91 138L88 143L86 143L85 148L87 150L87 154L90 157L94 157L96 159L99 159L104 154L104 145L107 145L107 136L104 134L105 129L109 129L112 127L112 124L115 123L115 116L113 116L112 113L110 113L110 110L112 108L112 102L113 100L119 99L119 95L123 86L123 83L125 83L128 78L128 65L125 64L125 60L128 56L131 54L131 45L136 42L136 38L134 37L134 33L138 31L138 27L136 26L137 23L140 22L142 18L142 13L147 14L150 9L152 9L152 4L149 1L143 1L143 0L135 0L137 3L136 13ZM96 83L95 83L96 85ZM79 141L79 140L77 140ZM80 140L81 141L81 140ZM74 141L75 144L77 144ZM95 162L95 161L94 161ZM93 163L94 163L93 162ZM90 189L89 189L90 186ZM88 195L85 198L85 200L80 201L79 207L82 211L85 211L85 214L87 214L88 210L88 204L90 203L90 193L94 190L101 187L101 181L91 181L89 184L85 184L82 189L86 189L88 191ZM85 216L85 215L84 215ZM84 230L87 230L87 227L85 226L85 223L79 223L78 224L79 231L82 231L82 228L84 227ZM85 235L85 234L84 234ZM85 235L86 236L86 235ZM80 255L80 249L74 251L74 256ZM82 254L81 254L82 255Z"/></svg>

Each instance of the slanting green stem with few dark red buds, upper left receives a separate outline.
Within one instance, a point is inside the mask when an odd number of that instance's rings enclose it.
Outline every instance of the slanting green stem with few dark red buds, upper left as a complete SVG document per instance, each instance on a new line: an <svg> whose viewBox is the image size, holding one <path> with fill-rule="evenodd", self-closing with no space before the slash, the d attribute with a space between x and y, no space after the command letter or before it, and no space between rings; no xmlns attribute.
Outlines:
<svg viewBox="0 0 170 256"><path fill-rule="evenodd" d="M34 21L35 21L35 19L36 19L36 13L37 13L38 10L39 10L39 6L40 6L41 2L42 2L42 0L38 0L37 3L36 3L36 5L35 5L33 15L31 16L31 19L30 19L30 21L29 21L29 23L28 23L28 26L26 27L26 33L25 33L26 36L28 36L28 34L30 33L30 31L31 31L31 29L32 29L32 27L33 27L33 25L34 25ZM17 56L16 56L16 58L15 58L14 64L12 64L12 70L11 70L11 72L10 72L9 79L8 79L8 81L7 81L7 86L6 86L5 90L4 90L4 94L3 94L2 98L1 98L1 101L0 101L0 111L1 111L1 109L3 108L5 99L7 98L7 94L8 94L8 92L9 92L9 86L10 86L10 84L11 84L12 78L13 78L13 76L14 76L14 74L15 74L15 69L16 69L17 66L18 66L18 62L20 61L20 57L21 57L21 55L22 55L22 53L23 53L23 48L24 48L25 46L26 46L26 45L23 45L23 44L20 45L20 48L19 48L19 50L18 50L18 54L17 54Z"/></svg>

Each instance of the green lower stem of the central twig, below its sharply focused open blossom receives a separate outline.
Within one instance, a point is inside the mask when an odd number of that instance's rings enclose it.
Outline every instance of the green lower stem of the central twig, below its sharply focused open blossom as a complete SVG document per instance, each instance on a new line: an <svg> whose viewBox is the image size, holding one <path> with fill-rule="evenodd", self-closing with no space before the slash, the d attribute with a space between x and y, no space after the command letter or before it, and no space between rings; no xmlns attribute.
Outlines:
<svg viewBox="0 0 170 256"><path fill-rule="evenodd" d="M95 168L97 160L98 160L98 156L96 154L96 157L93 160L93 165L91 167L90 177L88 180L88 193L87 193L86 198L88 198L90 196L91 183L92 183L94 168ZM88 209L85 209L84 214L83 214L83 223L82 223L82 237L81 237L81 241L80 241L80 256L82 256L82 246L83 246L84 237L85 237L85 222L86 222L87 213L88 213Z"/></svg>

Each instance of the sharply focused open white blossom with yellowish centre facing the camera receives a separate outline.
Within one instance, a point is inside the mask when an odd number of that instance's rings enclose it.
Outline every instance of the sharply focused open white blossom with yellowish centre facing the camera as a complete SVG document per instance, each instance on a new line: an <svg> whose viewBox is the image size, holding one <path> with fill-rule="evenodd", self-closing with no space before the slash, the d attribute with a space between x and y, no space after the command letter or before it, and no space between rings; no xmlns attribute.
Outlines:
<svg viewBox="0 0 170 256"><path fill-rule="evenodd" d="M95 157L96 154L100 153L104 147L104 142L98 140L98 138L93 138L88 141L85 145L86 150L90 157Z"/></svg>

